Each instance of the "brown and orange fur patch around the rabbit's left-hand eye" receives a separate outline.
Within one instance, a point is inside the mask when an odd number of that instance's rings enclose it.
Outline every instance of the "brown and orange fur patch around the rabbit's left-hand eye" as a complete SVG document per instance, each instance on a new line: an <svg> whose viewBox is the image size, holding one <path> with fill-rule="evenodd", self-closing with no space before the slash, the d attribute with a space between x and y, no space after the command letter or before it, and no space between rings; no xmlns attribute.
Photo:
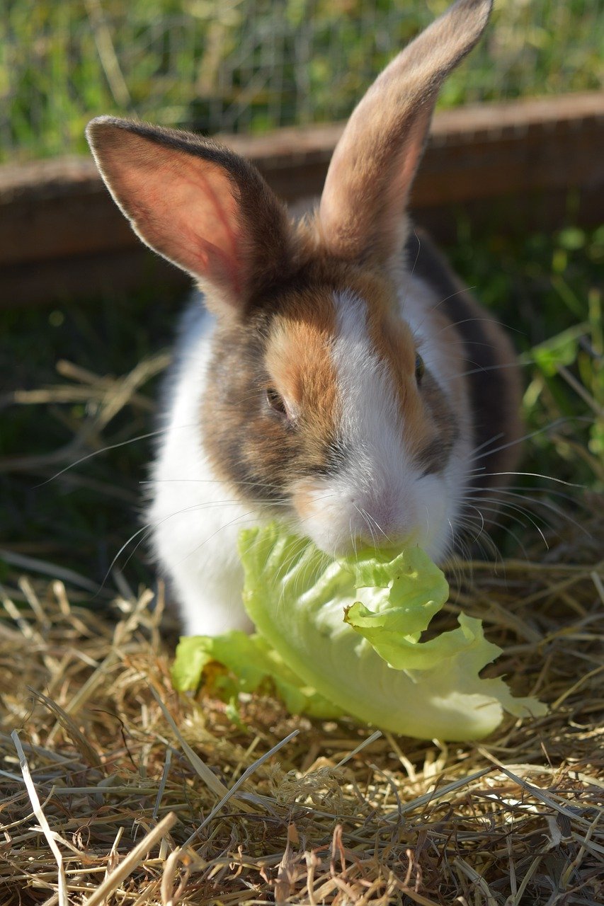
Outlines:
<svg viewBox="0 0 604 906"><path fill-rule="evenodd" d="M213 466L239 497L277 504L280 515L297 481L336 468L335 286L324 273L322 261L309 262L258 296L246 325L220 322L209 369L202 419ZM268 407L268 388L286 400L290 422Z"/></svg>

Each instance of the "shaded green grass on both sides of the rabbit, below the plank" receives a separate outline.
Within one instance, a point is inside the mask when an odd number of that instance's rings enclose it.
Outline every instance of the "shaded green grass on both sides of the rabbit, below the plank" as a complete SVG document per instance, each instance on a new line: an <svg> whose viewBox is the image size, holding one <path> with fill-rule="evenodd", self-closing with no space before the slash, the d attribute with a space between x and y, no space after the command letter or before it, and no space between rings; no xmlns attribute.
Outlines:
<svg viewBox="0 0 604 906"><path fill-rule="evenodd" d="M529 504L532 518L546 534L548 526L568 527L565 519L580 520L581 506L589 506L589 493L604 489L604 228L518 237L493 231L479 240L460 226L448 254L463 280L509 326L525 363L527 432L538 433L526 445L523 470L581 486L519 479L527 501L545 494L567 514L560 523L549 509ZM152 442L133 439L155 429L158 378L143 376L136 395L105 426L103 387L117 385L102 381L118 380L165 351L177 310L177 300L139 294L0 313L0 547L102 582L140 527ZM58 376L56 364L65 360L98 379L64 368ZM40 388L48 388L43 402L15 402L15 393L24 400L21 391ZM61 401L61 393L72 398ZM123 446L73 465L115 444ZM47 481L63 467L70 468ZM529 490L535 487L542 490ZM518 539L502 532L496 540L503 553L521 556L526 548L544 556L537 527L527 516L512 515L521 522L514 527ZM152 577L144 542L133 551L139 541L140 535L117 560L134 585ZM5 577L13 574L4 569Z"/></svg>

